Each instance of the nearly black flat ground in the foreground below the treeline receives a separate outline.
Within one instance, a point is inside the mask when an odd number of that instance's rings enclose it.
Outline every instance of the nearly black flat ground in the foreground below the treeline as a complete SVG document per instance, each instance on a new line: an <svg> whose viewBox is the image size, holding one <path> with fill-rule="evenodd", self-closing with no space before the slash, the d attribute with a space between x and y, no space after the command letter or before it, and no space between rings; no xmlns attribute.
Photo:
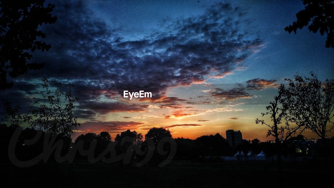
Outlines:
<svg viewBox="0 0 334 188"><path fill-rule="evenodd" d="M320 162L230 161L196 163L173 160L165 167L119 164L1 165L6 187L327 187L333 168Z"/></svg>

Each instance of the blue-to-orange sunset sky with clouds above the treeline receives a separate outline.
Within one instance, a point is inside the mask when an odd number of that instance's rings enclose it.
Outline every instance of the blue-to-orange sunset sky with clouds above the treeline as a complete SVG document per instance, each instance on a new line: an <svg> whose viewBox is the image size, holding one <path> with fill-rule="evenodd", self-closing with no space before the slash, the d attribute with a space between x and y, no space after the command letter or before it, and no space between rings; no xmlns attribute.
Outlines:
<svg viewBox="0 0 334 188"><path fill-rule="evenodd" d="M15 78L1 98L25 113L41 97L42 78L73 84L81 124L73 138L162 126L173 137L225 137L234 129L245 139L273 140L255 119L271 122L261 113L279 84L297 72L334 78L325 35L284 30L304 9L299 0L50 2L58 19L40 29L51 49L31 59L46 66ZM124 90L152 98L129 100Z"/></svg>

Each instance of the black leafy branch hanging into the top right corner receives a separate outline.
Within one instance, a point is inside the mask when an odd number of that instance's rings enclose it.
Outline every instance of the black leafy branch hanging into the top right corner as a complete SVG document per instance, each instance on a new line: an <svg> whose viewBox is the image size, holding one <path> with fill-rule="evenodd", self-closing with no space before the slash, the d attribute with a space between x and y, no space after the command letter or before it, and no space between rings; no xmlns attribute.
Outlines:
<svg viewBox="0 0 334 188"><path fill-rule="evenodd" d="M326 48L334 48L334 3L332 0L303 0L306 5L304 10L296 14L297 22L285 27L291 33L299 28L308 26L310 31L316 33L320 29L320 34L327 33Z"/></svg>

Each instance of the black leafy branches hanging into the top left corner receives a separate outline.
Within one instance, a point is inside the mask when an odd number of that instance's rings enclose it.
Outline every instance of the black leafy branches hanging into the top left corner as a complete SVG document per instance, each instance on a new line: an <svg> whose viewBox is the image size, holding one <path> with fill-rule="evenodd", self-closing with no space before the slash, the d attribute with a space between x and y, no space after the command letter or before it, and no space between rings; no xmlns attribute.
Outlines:
<svg viewBox="0 0 334 188"><path fill-rule="evenodd" d="M45 63L30 63L29 54L37 50L48 51L51 46L37 40L45 34L37 30L38 25L51 24L57 20L50 12L54 5L44 7L44 0L1 1L0 2L0 89L13 87L8 76L15 78L27 73L28 69L41 69Z"/></svg>

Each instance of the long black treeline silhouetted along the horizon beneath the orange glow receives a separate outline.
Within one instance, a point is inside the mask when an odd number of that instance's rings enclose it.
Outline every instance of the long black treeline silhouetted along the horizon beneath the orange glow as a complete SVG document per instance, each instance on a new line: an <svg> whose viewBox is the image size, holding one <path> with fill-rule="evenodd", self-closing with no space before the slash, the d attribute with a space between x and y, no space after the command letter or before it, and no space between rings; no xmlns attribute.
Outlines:
<svg viewBox="0 0 334 188"><path fill-rule="evenodd" d="M49 148L52 148L53 145L56 145L54 143L57 143L59 140L61 140L62 143L60 152L57 153L56 147L53 147L51 153L44 154L49 155L46 156L46 161L43 158L44 162L56 163L57 155L58 157L68 156L71 153L69 150L72 148L77 149L77 151L73 153L74 156L72 160L74 162L89 161L89 155L91 154L82 155L82 151L94 150L91 158L98 158L102 154L106 159L117 156L113 162L120 164L140 163L144 161L145 164L158 165L167 158L197 160L204 156L233 156L238 151L242 151L244 154L251 151L253 154L257 155L263 150L266 156L276 155L275 145L273 143L260 142L257 138L253 140L243 139L242 145L230 147L226 138L219 133L203 135L196 139L183 137L174 138L175 146L171 142L165 142L162 143L162 148L159 151L158 145L163 138L169 137L172 139L171 132L163 127L153 127L144 136L141 133L128 129L117 134L114 140L109 132L106 131L99 134L89 132L79 135L73 141L68 135L55 134L55 137L53 137L44 131L42 131L39 139L36 139L36 135L38 134L36 129L22 128L18 125L7 126L6 124L0 124L1 151L8 151L8 146L10 142L13 142L11 139L16 129L22 130L17 139L14 140L15 158L19 161L29 161L36 158L43 152L45 153L45 151L43 151L45 150L45 145L50 145ZM27 143L29 140L33 139L35 139L33 144ZM304 137L299 135L291 139L291 141L292 140L304 140ZM292 144L284 144L282 147L282 155L302 155L296 153L296 147L294 146L295 145ZM103 153L108 147L112 148L112 152ZM171 153L173 150L176 152ZM10 163L11 161L7 152L1 153L0 158L3 163Z"/></svg>

